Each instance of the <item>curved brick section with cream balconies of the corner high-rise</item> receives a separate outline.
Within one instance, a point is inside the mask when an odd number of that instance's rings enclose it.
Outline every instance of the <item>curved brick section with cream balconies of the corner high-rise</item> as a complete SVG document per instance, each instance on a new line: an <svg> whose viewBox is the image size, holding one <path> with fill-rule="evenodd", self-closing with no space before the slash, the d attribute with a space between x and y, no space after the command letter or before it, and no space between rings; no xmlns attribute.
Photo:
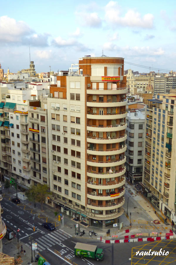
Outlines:
<svg viewBox="0 0 176 265"><path fill-rule="evenodd" d="M123 214L126 162L126 77L123 58L85 57L87 76L87 208L90 225L105 228ZM90 77L89 77L90 76Z"/></svg>

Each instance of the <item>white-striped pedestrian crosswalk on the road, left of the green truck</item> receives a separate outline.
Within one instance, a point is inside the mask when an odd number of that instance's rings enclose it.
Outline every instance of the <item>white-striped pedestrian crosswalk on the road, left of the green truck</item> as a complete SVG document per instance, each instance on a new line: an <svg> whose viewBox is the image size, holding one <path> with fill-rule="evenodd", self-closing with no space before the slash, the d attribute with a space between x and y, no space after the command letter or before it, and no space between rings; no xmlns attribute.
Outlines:
<svg viewBox="0 0 176 265"><path fill-rule="evenodd" d="M44 236L41 236L39 238L34 238L34 241L37 243L37 249L39 251L43 251L45 249L48 249L49 247L54 246L57 243L60 243L61 241L64 241L66 239L70 238L70 235L65 233L63 230L60 231L54 230L48 234L45 234ZM31 248L30 243L26 243L28 247Z"/></svg>

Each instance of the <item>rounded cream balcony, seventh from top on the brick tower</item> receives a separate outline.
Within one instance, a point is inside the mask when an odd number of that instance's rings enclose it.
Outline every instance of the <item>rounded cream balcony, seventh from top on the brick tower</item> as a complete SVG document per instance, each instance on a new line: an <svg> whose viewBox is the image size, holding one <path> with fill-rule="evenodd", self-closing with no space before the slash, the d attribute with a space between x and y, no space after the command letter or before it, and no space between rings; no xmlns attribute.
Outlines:
<svg viewBox="0 0 176 265"><path fill-rule="evenodd" d="M115 167L118 165L123 165L126 162L126 155L122 159L115 159L115 160L107 160L106 162L96 162L93 160L87 159L87 165L92 167Z"/></svg>

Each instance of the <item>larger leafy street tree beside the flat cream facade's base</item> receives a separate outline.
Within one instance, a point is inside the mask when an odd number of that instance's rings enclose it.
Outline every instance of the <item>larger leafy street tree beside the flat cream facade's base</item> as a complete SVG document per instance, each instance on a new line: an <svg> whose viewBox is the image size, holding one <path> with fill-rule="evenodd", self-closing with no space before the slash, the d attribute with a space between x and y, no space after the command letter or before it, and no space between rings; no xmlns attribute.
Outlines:
<svg viewBox="0 0 176 265"><path fill-rule="evenodd" d="M37 184L37 186L32 186L29 190L26 191L25 195L29 201L38 201L41 204L41 209L43 211L43 203L45 203L45 198L47 195L52 193L48 190L46 184Z"/></svg>

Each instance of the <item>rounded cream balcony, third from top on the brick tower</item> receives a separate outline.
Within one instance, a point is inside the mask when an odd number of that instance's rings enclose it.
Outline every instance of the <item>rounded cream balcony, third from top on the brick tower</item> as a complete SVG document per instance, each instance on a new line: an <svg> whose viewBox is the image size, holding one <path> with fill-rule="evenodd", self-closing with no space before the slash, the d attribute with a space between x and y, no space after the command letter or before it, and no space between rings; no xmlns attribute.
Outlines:
<svg viewBox="0 0 176 265"><path fill-rule="evenodd" d="M115 120L115 119L123 119L127 116L127 112L123 111L124 113L107 113L103 115L99 115L99 113L90 113L87 114L87 119L92 120Z"/></svg>

